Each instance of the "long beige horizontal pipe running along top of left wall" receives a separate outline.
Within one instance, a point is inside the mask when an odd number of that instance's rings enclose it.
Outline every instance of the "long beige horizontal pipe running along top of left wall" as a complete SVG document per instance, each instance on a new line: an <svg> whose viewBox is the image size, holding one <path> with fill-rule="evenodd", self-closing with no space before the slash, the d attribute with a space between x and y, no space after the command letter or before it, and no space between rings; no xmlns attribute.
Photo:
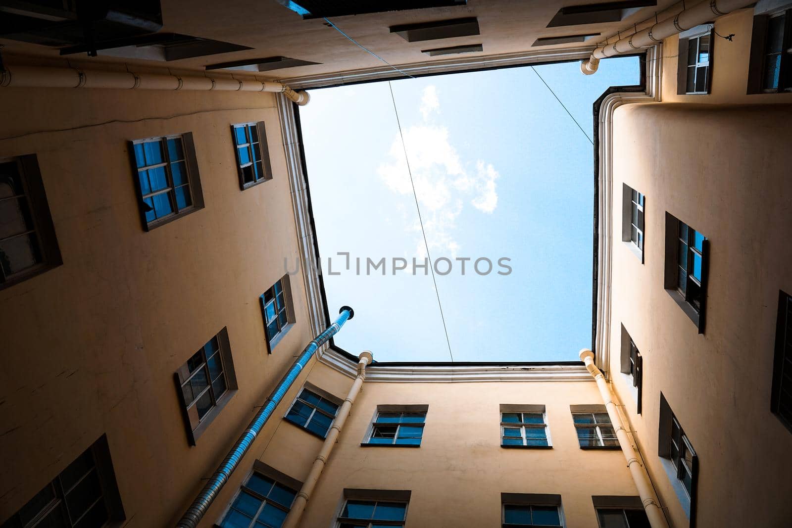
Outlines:
<svg viewBox="0 0 792 528"><path fill-rule="evenodd" d="M139 74L131 71L80 70L74 67L6 66L6 70L0 70L0 87L2 86L275 92L283 93L300 105L308 104L309 100L306 92L295 92L280 82L196 75Z"/></svg>

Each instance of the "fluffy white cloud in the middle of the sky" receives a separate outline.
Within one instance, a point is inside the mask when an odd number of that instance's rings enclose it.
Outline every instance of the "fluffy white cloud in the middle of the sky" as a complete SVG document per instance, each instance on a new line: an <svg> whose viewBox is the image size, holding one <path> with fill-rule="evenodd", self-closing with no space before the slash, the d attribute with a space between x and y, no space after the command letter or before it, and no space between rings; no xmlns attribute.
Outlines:
<svg viewBox="0 0 792 528"><path fill-rule="evenodd" d="M424 90L419 109L424 120L428 119L431 112L440 112L440 101L434 86ZM456 256L460 249L454 236L456 220L465 204L470 203L486 214L491 214L497 207L497 170L491 163L482 160L463 161L451 144L447 128L443 126L423 123L407 127L404 144L421 206L429 251L433 257ZM377 172L391 191L399 195L413 194L402 140L398 135L390 146L388 159L379 166ZM408 211L407 214L414 213ZM416 254L425 256L417 218L407 229L417 232Z"/></svg>

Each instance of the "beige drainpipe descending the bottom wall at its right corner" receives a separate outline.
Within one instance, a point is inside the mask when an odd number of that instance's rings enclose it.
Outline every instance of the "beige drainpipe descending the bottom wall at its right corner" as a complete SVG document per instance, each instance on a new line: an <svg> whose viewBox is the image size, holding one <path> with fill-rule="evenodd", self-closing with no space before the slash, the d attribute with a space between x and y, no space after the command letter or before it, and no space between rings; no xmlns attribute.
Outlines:
<svg viewBox="0 0 792 528"><path fill-rule="evenodd" d="M585 363L588 373L594 377L596 386L600 389L600 395L607 409L607 416L611 417L611 424L613 424L613 428L616 431L616 438L619 439L619 446L622 447L624 458L627 459L627 467L630 469L635 487L638 488L638 495L641 496L646 517L649 518L649 525L652 528L669 528L668 520L665 519L663 510L660 507L660 501L657 500L657 496L654 493L649 473L646 472L645 465L640 462L642 458L641 454L638 453L638 447L630 441L627 430L622 423L622 416L619 414L619 398L608 386L602 371L594 364L594 352L584 348L581 350L581 360Z"/></svg>

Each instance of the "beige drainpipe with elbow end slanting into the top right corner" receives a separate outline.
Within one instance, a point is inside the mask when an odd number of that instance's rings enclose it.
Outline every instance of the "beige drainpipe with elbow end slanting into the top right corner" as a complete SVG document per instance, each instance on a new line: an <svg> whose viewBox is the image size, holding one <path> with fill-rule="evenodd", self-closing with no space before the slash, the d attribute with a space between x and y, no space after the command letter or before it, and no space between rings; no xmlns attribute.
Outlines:
<svg viewBox="0 0 792 528"><path fill-rule="evenodd" d="M712 21L715 17L721 17L754 2L756 0L704 0L690 9L683 9L674 17L665 18L649 28L616 40L613 44L597 47L592 51L592 56L581 63L581 71L586 75L591 75L599 66L600 59L624 53L635 53L642 47L654 46L669 36L695 28L697 25Z"/></svg>

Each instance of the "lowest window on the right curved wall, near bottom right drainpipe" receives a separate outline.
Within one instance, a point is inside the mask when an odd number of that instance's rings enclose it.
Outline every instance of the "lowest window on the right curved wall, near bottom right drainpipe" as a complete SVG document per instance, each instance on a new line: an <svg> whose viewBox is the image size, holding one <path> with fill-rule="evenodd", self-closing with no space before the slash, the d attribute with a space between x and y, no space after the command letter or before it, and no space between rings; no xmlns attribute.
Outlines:
<svg viewBox="0 0 792 528"><path fill-rule="evenodd" d="M659 454L688 519L695 519L695 486L699 458L664 395L660 395Z"/></svg>

